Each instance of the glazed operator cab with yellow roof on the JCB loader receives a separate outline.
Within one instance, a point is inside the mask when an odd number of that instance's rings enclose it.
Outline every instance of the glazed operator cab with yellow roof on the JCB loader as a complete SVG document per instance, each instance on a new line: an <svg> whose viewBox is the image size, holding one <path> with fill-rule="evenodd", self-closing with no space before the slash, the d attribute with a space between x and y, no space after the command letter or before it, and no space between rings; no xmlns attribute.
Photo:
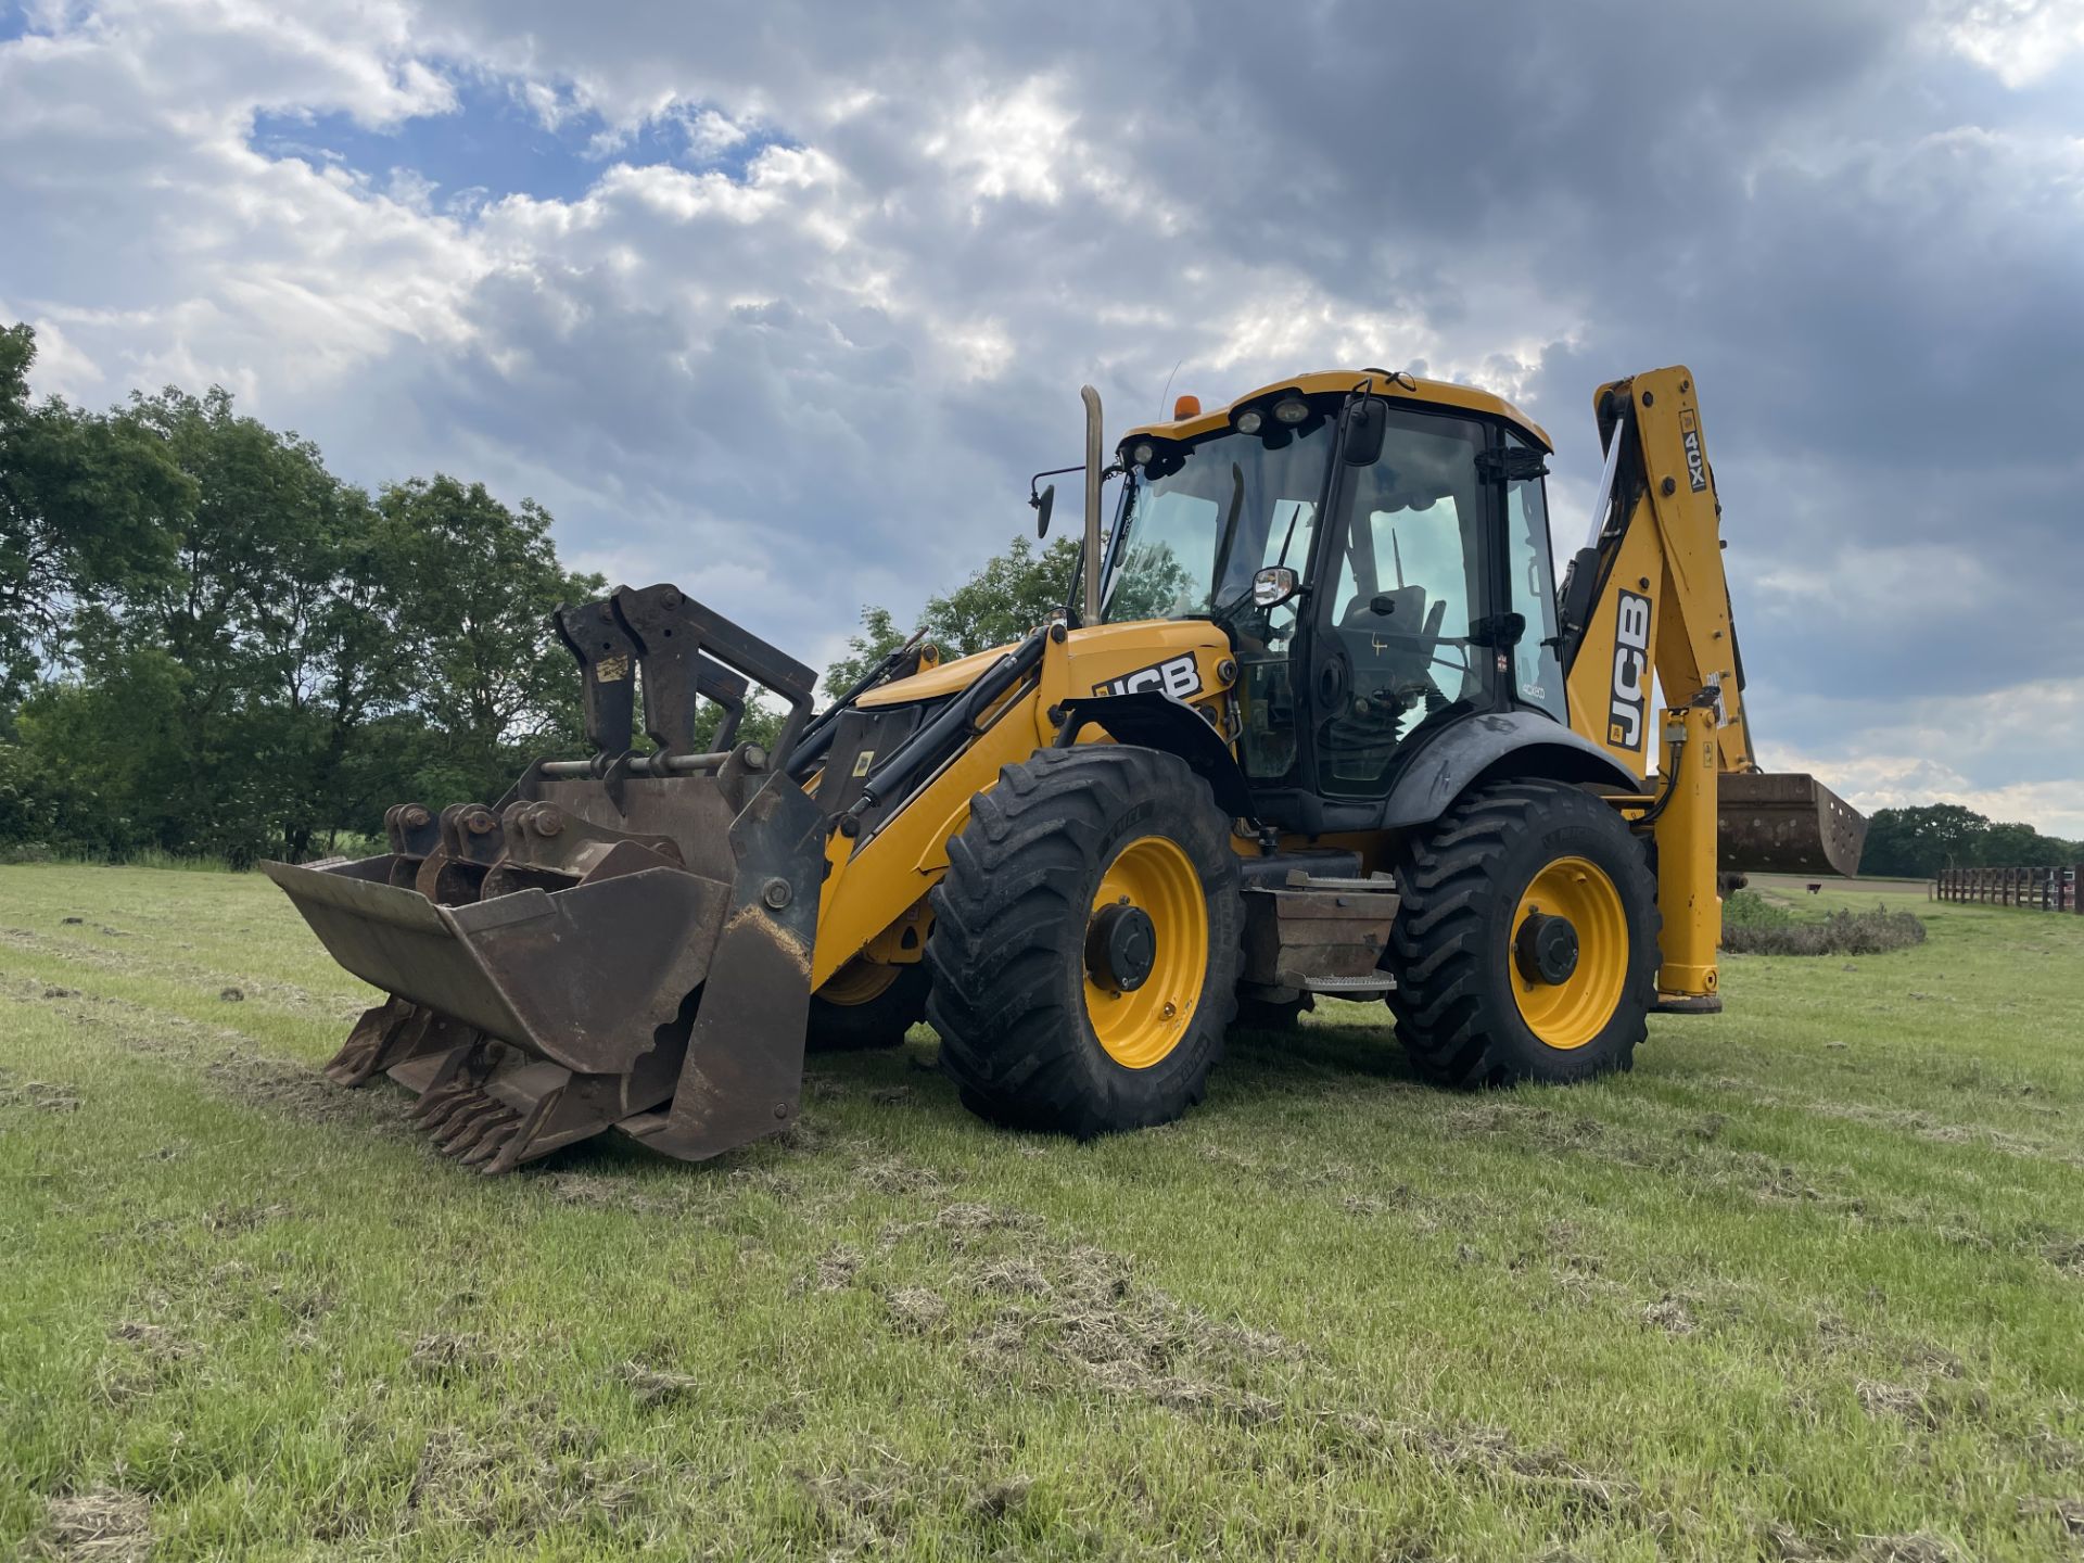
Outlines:
<svg viewBox="0 0 2084 1563"><path fill-rule="evenodd" d="M1223 627L1269 804L1380 800L1455 717L1565 719L1546 450L1496 396L1380 369L1134 429L1100 621Z"/></svg>

